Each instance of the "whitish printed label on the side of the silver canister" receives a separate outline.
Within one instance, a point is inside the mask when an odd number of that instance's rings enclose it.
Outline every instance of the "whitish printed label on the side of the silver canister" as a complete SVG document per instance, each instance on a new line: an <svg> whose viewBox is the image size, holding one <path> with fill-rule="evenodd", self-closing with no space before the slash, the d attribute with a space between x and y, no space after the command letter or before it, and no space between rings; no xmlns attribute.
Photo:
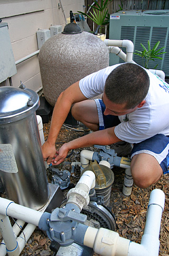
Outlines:
<svg viewBox="0 0 169 256"><path fill-rule="evenodd" d="M0 170L5 173L18 172L11 144L0 144Z"/></svg>

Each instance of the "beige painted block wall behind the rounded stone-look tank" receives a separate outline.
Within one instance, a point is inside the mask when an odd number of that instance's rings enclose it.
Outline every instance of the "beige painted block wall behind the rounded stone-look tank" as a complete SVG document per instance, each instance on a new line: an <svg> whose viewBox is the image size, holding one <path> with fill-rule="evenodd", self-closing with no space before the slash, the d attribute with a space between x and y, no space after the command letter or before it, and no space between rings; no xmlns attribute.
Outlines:
<svg viewBox="0 0 169 256"><path fill-rule="evenodd" d="M70 10L73 13L84 11L85 0L62 0L66 18L69 18ZM36 31L38 29L50 29L51 25L65 25L62 8L59 8L59 0L1 0L0 18L8 23L14 59L17 61L32 54L37 47ZM1 49L0 49L1 50ZM17 64L17 74L12 76L14 87L22 81L26 88L34 91L42 86L38 55ZM8 79L1 83L10 85Z"/></svg>

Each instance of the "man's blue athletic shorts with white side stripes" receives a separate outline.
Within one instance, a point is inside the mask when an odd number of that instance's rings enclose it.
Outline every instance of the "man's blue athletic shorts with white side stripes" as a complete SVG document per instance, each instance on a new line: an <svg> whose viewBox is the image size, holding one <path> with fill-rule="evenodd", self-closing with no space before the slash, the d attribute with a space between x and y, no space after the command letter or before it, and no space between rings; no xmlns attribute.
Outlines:
<svg viewBox="0 0 169 256"><path fill-rule="evenodd" d="M95 99L95 102L99 116L99 130L113 127L120 123L118 116L104 115L105 104L101 99ZM169 173L169 136L156 134L147 140L134 143L131 158L139 153L148 153L154 156L163 169L163 173Z"/></svg>

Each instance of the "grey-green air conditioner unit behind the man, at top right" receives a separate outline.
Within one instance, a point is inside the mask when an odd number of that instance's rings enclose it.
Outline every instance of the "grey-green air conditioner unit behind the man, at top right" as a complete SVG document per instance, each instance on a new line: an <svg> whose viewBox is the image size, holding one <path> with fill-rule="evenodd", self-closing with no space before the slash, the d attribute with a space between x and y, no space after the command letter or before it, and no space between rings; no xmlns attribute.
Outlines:
<svg viewBox="0 0 169 256"><path fill-rule="evenodd" d="M160 41L159 47L165 47L163 58L149 61L148 68L158 64L157 69L163 70L166 76L169 76L169 10L147 10L147 11L119 11L110 15L109 39L131 40L135 50L143 50L140 43L147 48L148 40L151 43L151 49ZM125 52L125 49L122 48ZM134 55L134 61L143 66L143 60L138 55ZM115 54L110 54L110 65L123 63Z"/></svg>

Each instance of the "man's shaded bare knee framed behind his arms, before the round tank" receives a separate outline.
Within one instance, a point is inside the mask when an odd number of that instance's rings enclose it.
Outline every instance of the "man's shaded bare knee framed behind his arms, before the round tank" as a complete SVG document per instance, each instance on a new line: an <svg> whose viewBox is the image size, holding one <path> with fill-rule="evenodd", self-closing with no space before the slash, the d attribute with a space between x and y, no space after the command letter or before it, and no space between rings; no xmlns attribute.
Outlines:
<svg viewBox="0 0 169 256"><path fill-rule="evenodd" d="M72 116L92 131L99 130L99 117L95 100L84 100L74 104Z"/></svg>

